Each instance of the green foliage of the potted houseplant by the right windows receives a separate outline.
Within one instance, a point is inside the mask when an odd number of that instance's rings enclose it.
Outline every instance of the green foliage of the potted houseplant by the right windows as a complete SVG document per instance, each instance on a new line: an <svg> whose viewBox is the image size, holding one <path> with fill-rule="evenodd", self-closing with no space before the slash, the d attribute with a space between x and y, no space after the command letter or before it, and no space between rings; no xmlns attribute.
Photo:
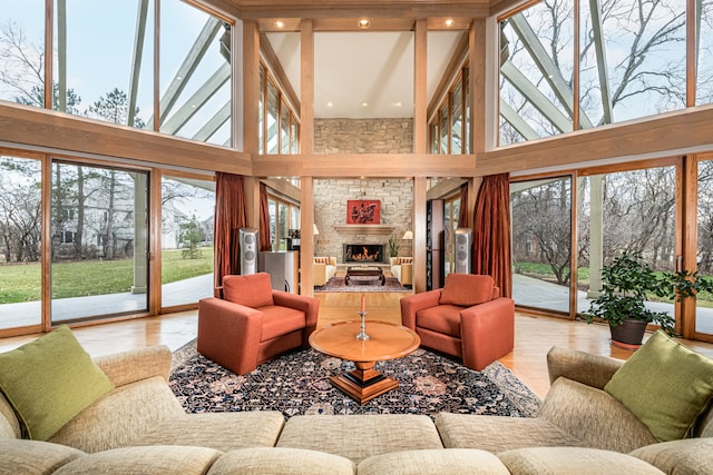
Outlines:
<svg viewBox="0 0 713 475"><path fill-rule="evenodd" d="M682 270L657 276L641 256L625 253L602 268L602 294L592 300L585 318L589 324L595 318L604 320L612 328L627 320L657 324L668 335L675 336L674 318L646 308L644 303L647 295L681 301L712 288L713 283L700 278L696 273Z"/></svg>

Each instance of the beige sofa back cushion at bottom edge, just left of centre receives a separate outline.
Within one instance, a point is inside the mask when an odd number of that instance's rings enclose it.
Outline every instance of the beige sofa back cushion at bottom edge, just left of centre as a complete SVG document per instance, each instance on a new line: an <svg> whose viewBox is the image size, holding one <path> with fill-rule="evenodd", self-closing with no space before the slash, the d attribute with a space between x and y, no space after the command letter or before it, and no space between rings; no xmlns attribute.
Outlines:
<svg viewBox="0 0 713 475"><path fill-rule="evenodd" d="M228 452L208 475L353 475L354 463L338 455L300 448L256 447Z"/></svg>

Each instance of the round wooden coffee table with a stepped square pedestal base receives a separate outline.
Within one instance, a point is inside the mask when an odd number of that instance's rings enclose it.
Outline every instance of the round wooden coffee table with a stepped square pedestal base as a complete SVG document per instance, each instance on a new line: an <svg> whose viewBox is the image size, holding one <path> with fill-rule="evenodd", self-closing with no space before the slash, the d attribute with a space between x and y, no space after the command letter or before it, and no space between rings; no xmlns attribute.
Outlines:
<svg viewBox="0 0 713 475"><path fill-rule="evenodd" d="M377 362L400 358L421 345L421 338L402 325L367 321L369 339L359 340L360 321L340 321L310 335L310 345L320 353L354 362L356 369L330 379L344 394L364 404L399 386L399 382L377 369Z"/></svg>

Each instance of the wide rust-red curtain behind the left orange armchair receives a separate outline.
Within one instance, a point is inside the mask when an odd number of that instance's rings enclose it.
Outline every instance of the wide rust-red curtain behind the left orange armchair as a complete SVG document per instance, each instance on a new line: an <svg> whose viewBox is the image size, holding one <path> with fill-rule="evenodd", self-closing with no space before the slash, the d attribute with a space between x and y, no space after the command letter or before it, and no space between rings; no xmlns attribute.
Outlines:
<svg viewBox="0 0 713 475"><path fill-rule="evenodd" d="M215 277L241 273L240 228L245 227L245 189L240 175L215 174Z"/></svg>

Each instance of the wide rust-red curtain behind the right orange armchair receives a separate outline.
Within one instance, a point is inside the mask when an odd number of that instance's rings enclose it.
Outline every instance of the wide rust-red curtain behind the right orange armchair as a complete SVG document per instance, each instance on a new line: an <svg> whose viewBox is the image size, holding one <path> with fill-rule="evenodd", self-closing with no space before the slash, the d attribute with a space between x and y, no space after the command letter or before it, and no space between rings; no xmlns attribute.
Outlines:
<svg viewBox="0 0 713 475"><path fill-rule="evenodd" d="M512 296L510 257L510 180L508 174L485 177L476 202L473 271L492 276L500 295Z"/></svg>

